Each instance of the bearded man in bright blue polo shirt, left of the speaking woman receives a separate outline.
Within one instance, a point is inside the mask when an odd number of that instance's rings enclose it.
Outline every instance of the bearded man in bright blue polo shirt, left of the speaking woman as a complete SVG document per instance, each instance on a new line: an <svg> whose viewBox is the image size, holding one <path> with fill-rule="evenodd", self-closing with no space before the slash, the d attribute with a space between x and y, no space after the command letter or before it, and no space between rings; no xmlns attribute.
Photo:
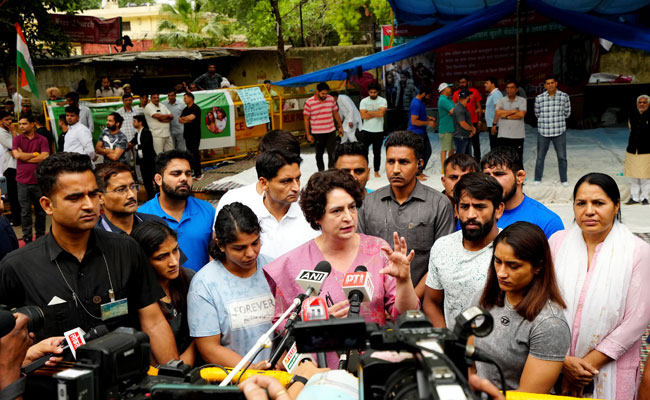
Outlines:
<svg viewBox="0 0 650 400"><path fill-rule="evenodd" d="M198 271L209 261L208 245L216 214L214 207L192 194L192 155L171 150L156 156L154 180L162 189L138 211L157 215L178 233L178 245L188 257L184 267Z"/></svg>

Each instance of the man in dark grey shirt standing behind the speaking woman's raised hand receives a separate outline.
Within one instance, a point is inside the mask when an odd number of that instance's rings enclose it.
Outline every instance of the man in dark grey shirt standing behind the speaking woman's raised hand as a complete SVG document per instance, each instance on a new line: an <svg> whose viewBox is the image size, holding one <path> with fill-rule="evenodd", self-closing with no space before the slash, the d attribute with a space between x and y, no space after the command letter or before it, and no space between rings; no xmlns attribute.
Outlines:
<svg viewBox="0 0 650 400"><path fill-rule="evenodd" d="M393 240L393 232L406 238L415 250L411 279L419 298L424 295L424 276L433 243L454 231L451 203L439 191L417 179L424 145L419 135L393 132L386 139L386 176L390 185L369 193L359 209L357 230Z"/></svg>

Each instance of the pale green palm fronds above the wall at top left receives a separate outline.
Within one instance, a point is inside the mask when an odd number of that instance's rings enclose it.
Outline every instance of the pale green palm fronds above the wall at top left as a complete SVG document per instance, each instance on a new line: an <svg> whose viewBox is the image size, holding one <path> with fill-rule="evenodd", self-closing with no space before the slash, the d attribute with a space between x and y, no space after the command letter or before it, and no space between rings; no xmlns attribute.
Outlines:
<svg viewBox="0 0 650 400"><path fill-rule="evenodd" d="M208 12L205 1L176 0L163 4L166 19L160 22L154 39L157 45L170 47L211 47L229 42L234 25L223 15Z"/></svg>

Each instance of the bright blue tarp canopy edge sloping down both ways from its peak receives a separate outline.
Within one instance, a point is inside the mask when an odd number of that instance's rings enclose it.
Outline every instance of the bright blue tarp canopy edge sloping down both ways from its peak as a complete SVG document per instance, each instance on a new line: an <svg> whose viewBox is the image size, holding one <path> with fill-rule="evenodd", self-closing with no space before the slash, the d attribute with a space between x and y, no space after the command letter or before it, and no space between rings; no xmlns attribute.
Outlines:
<svg viewBox="0 0 650 400"><path fill-rule="evenodd" d="M397 0L391 0L391 3L393 1ZM642 1L647 2L646 0ZM530 8L568 27L578 31L587 32L596 37L605 38L621 46L650 51L650 30L647 28L634 27L579 11L557 8L547 4L547 2L557 4L559 0L547 0L546 2L544 0L526 1ZM605 3L605 1L597 1L596 3ZM611 3L618 4L620 2ZM632 1L631 3L638 5L640 1ZM488 28L506 16L514 13L515 8L516 0L504 0L488 8L479 9L454 23L448 24L403 45L366 57L351 60L343 64L335 65L333 67L325 68L320 71L274 82L274 85L305 86L314 82L345 80L352 74L360 74L361 71L379 68L386 64L426 53L447 44L454 43L472 35L473 33Z"/></svg>

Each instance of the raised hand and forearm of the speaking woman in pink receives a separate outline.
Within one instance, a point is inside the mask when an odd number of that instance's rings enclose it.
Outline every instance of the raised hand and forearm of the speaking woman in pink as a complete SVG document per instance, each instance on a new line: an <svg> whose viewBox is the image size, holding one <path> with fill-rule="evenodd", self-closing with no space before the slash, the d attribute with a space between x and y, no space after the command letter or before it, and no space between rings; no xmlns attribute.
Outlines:
<svg viewBox="0 0 650 400"><path fill-rule="evenodd" d="M411 282L411 261L415 251L407 253L406 239L400 238L393 232L393 249L389 246L381 248L388 256L388 266L379 271L380 274L390 275L395 278L395 307L402 313L407 310L420 308L420 300L415 294Z"/></svg>

